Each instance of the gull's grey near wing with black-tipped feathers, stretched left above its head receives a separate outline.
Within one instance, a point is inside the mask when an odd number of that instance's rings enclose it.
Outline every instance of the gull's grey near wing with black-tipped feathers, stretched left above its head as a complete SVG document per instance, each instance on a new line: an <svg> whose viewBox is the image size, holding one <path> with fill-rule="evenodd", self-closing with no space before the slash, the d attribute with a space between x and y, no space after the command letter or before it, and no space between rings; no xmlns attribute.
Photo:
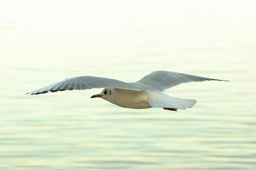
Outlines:
<svg viewBox="0 0 256 170"><path fill-rule="evenodd" d="M40 88L33 92L32 94L43 94L47 92L57 92L63 90L86 90L92 88L120 88L125 90L137 90L141 89L128 84L126 82L122 82L119 80L111 79L111 78L102 78L102 77L94 77L94 76L80 76L80 77L72 77L66 78L60 82L56 82L49 86ZM30 94L27 93L27 94Z"/></svg>

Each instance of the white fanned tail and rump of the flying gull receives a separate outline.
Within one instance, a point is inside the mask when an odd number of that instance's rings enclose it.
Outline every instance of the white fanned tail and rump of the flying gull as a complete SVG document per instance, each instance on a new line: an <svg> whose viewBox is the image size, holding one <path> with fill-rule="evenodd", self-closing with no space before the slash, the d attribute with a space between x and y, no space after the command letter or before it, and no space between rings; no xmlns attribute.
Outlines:
<svg viewBox="0 0 256 170"><path fill-rule="evenodd" d="M152 107L186 109L196 104L194 99L181 99L168 96L163 92L150 92L148 104Z"/></svg>

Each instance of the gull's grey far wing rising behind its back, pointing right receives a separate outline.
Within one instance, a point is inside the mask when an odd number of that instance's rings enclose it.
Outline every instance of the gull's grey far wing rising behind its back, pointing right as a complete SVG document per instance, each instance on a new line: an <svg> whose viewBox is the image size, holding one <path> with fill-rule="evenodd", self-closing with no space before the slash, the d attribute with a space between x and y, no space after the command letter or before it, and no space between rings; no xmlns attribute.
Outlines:
<svg viewBox="0 0 256 170"><path fill-rule="evenodd" d="M190 74L183 74L179 72L170 72L170 71L154 71L142 79L138 80L136 83L144 84L149 86L151 89L164 91L168 88L177 86L182 83L188 82L202 82L206 80L218 80L214 78L206 78L200 76L194 76ZM227 81L227 80L218 80L218 81Z"/></svg>

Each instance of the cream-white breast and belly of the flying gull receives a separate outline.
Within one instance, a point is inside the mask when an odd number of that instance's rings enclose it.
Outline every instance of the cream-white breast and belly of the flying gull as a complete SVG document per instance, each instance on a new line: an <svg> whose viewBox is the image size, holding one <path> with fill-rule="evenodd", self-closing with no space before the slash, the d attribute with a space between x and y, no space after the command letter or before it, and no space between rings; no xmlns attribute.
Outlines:
<svg viewBox="0 0 256 170"><path fill-rule="evenodd" d="M115 97L109 102L120 107L146 109L151 107L148 98L147 92L116 89Z"/></svg>

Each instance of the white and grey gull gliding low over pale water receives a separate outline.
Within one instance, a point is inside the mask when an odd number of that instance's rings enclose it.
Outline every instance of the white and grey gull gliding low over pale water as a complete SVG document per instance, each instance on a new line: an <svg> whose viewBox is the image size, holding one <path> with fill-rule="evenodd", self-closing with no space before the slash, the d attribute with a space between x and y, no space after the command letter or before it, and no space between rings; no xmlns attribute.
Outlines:
<svg viewBox="0 0 256 170"><path fill-rule="evenodd" d="M32 95L63 90L104 88L100 94L95 94L91 98L102 98L117 106L132 109L161 107L163 109L177 111L177 109L191 108L194 106L194 104L196 104L196 100L174 98L168 96L163 91L177 86L178 84L187 82L202 82L206 80L218 79L170 71L154 71L144 76L137 82L130 83L111 78L79 76L66 78L65 80L56 82L30 93Z"/></svg>

